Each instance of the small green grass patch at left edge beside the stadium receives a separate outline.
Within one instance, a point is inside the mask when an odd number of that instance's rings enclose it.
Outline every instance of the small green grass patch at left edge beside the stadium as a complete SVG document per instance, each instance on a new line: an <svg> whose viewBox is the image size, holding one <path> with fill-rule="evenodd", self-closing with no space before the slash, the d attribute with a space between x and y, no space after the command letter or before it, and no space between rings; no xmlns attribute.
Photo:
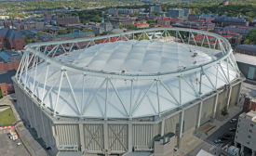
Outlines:
<svg viewBox="0 0 256 156"><path fill-rule="evenodd" d="M15 122L11 108L0 112L0 125L7 125Z"/></svg>

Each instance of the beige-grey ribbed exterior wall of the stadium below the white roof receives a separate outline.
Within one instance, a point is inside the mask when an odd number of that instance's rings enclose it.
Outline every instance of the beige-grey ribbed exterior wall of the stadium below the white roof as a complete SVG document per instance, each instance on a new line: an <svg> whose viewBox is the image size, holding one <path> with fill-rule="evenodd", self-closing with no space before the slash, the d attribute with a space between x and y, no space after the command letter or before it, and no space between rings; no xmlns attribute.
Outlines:
<svg viewBox="0 0 256 156"><path fill-rule="evenodd" d="M154 137L169 132L176 134L179 144L185 132L193 132L214 119L224 107L236 106L242 84L241 80L236 80L210 95L148 121L128 121L54 117L52 112L40 107L38 99L32 97L15 78L13 82L21 118L44 139L53 155L60 150L77 150L85 155L154 150Z"/></svg>

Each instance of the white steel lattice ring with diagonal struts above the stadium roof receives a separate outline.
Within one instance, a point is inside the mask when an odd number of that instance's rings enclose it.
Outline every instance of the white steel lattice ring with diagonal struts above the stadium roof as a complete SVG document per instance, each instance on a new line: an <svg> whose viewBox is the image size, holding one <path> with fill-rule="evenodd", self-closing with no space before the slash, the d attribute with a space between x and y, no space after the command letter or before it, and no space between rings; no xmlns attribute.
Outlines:
<svg viewBox="0 0 256 156"><path fill-rule="evenodd" d="M156 32L161 32L161 35L158 38L155 38L155 33ZM182 69L180 71L170 71L170 72L161 72L161 73L114 73L114 72L107 72L107 71L93 71L93 70L89 70L89 69L84 69L84 68L79 68L76 66L73 66L71 64L68 63L64 63L61 61L58 61L56 59L54 59L55 55L57 54L58 51L61 51L62 53L70 53L73 50L75 50L75 48L79 49L81 48L79 43L81 42L88 42L88 45L86 45L83 48L88 48L91 45L95 45L95 41L99 41L99 40L104 40L104 42L109 42L111 40L111 38L113 37L117 37L117 40L129 40L129 39L136 39L135 36L138 36L137 40L141 40L141 39L149 39L149 40L157 40L157 39L165 39L165 41L167 42L167 38L170 37L170 32L175 32L175 42L181 42L182 44L187 44L187 45L195 45L195 46L203 46L203 42L207 41L207 46L209 49L216 49L216 48L220 48L222 50L222 58L218 58L216 60L210 61L208 63L202 64L202 65L198 65L196 67L192 67L192 68L187 68L187 69ZM182 37L181 32L186 32L188 33L188 39L185 38L185 36ZM203 42L202 44L198 44L198 42L195 41L195 34L203 34L204 38L203 38ZM214 37L214 44L210 44L209 42L209 36ZM187 40L187 41L185 41ZM70 46L66 46L64 47L64 45L69 44ZM217 47L218 45L218 47ZM198 31L198 30L191 30L191 29L183 29L183 28L155 28L155 29L147 29L147 30L141 30L141 31L135 31L135 32L124 32L121 34L113 34L113 35L106 35L106 36L99 36L99 37L93 37L93 38L79 38L79 39L74 39L74 40L65 40L65 41L53 41L53 42L46 42L46 43L36 43L36 44L32 44L32 45L26 45L25 47L25 53L23 55L23 57L21 58L20 61L20 66L19 69L16 73L16 80L18 83L22 84L24 87L24 90L28 90L28 92L31 93L32 96L35 96L34 94L34 90L36 87L38 87L38 84L35 84L35 75L37 74L37 66L38 64L42 63L42 62L47 62L47 71L46 71L46 77L45 77L45 81L44 81L44 89L42 92L42 99L39 102L41 107L45 107L44 106L44 99L45 97L47 97L47 94L49 94L52 90L52 87L46 92L46 85L47 85L47 77L48 77L48 65L54 65L57 66L61 69L61 77L60 80L56 80L56 83L59 83L59 89L58 89L58 94L57 94L57 98L56 98L56 104L54 106L54 110L52 110L53 115L56 116L58 115L58 113L56 112L57 108L58 108L58 103L59 103L59 97L61 94L61 84L62 84L62 80L65 77L65 79L67 80L69 87L71 89L72 92L72 96L74 97L74 106L77 108L77 110L79 110L79 117L83 117L84 114L87 113L88 107L89 105L93 102L93 100L95 99L95 97L97 96L99 90L105 86L105 111L104 111L104 120L107 120L107 101L108 101L108 90L109 88L113 88L115 91L116 96L118 97L118 99L120 100L120 103L123 106L123 109L125 110L124 112L126 113L126 118L127 119L132 119L133 118L133 114L134 112L140 107L141 105L141 101L143 100L144 97L147 96L148 92L150 91L150 89L152 88L153 85L156 86L156 95L157 95L157 103L158 103L158 115L161 116L163 113L169 111L160 111L160 102L159 102L159 95L158 95L158 89L159 89L159 85L162 85L162 87L168 92L169 96L172 97L175 102L177 103L177 107L181 107L182 106L182 84L181 81L183 80L186 84L189 85L189 87L191 89L193 89L193 91L195 92L195 95L200 98L202 93L201 93L201 87L202 87L202 77L205 76L208 81L209 84L211 85L211 87L216 91L217 90L217 81L218 81L218 75L220 74L219 69L221 69L222 71L222 75L225 78L226 84L230 84L231 80L229 77L229 74L227 74L225 71L223 71L222 69L222 62L226 61L228 63L227 64L227 73L229 73L229 65L231 65L234 69L236 69L236 78L239 79L240 77L240 71L237 68L236 65L236 60L232 54L232 48L231 45L228 43L228 41L223 38L222 36L215 34L215 33L211 33L211 32L203 32L203 31ZM216 70L216 78L215 81L212 81L212 79L209 78L209 75L204 71L206 68L211 67L213 65L217 65L217 70ZM28 81L31 78L31 75L28 76L27 72L33 69L34 70L34 83L33 83L33 89L30 90L29 88L27 88L27 84ZM95 95L90 98L89 103L87 106L80 108L78 101L76 100L75 94L74 94L74 88L72 83L70 82L69 79L69 74L67 71L73 71L76 73L79 73L81 75L83 75L83 97L82 97L82 101L84 101L84 87L85 87L85 77L87 75L90 76L95 76L95 77L103 77L104 80L101 82L101 85L99 86L98 90L96 91ZM190 82L186 81L183 78L183 75L188 74L188 73L192 73L192 72L198 72L200 74L200 78L199 78L199 88L195 87L193 84L190 84ZM25 81L21 81L21 75L24 74L25 76ZM166 86L166 84L162 81L164 78L173 78L173 77L177 77L179 79L179 95L180 97L177 98L175 96L173 96L172 91L169 90L169 88ZM115 85L113 84L112 80L113 79L123 79L126 81L130 81L130 108L127 110L126 107L124 106L124 102L122 97L119 96L118 90L115 88ZM141 101L139 103L137 103L137 105L135 107L131 107L132 105L132 95L133 93L133 81L135 80L150 80L152 81L152 83L150 84L149 88L145 90L145 92L143 93L142 97L141 97ZM87 116L88 117L88 116Z"/></svg>

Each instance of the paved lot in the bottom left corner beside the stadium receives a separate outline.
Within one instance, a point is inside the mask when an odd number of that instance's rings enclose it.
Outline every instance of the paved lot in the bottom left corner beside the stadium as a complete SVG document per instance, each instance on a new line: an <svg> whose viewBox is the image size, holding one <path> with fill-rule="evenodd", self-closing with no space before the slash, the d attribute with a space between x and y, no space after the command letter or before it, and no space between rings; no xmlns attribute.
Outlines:
<svg viewBox="0 0 256 156"><path fill-rule="evenodd" d="M7 133L0 133L0 155L1 156L28 156L29 153L22 146L17 145L20 140L10 140Z"/></svg>

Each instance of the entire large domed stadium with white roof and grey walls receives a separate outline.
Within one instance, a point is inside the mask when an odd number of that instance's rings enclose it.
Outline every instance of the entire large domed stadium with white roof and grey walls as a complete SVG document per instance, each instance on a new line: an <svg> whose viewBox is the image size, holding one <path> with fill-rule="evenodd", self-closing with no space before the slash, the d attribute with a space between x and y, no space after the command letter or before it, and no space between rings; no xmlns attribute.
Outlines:
<svg viewBox="0 0 256 156"><path fill-rule="evenodd" d="M242 77L222 36L154 28L27 45L13 81L52 155L157 155L236 106Z"/></svg>

